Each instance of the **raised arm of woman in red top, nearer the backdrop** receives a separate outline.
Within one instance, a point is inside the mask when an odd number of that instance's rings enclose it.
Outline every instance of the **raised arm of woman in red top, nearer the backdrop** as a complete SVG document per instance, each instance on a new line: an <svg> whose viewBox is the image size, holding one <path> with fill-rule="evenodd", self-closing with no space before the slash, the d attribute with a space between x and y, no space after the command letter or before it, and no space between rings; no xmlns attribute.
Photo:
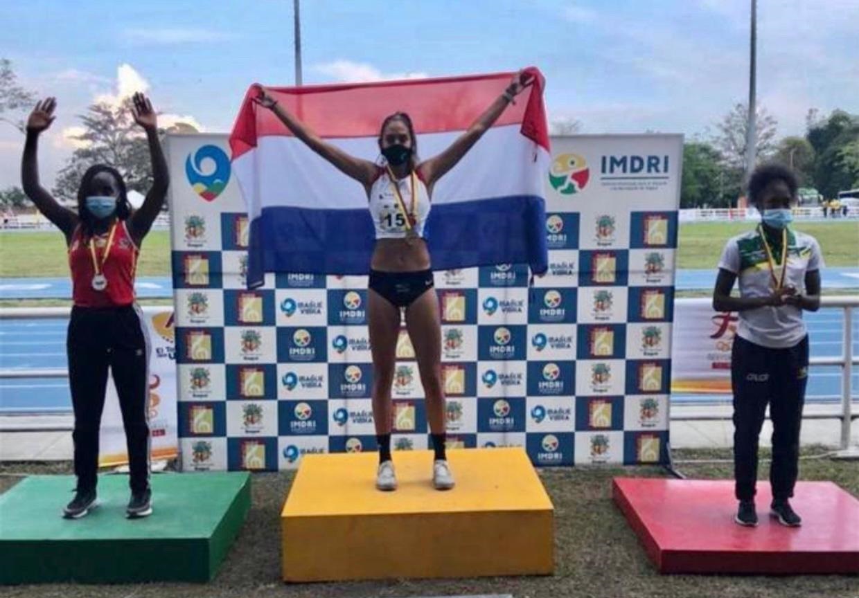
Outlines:
<svg viewBox="0 0 859 598"><path fill-rule="evenodd" d="M149 98L140 93L134 94L133 102L134 106L131 108L131 112L134 116L134 122L146 131L149 156L152 160L152 187L146 194L143 205L135 210L134 214L131 214L128 221L131 239L134 239L135 244L139 246L143 237L152 228L155 218L161 212L170 184L170 175L167 170L167 160L164 159L164 152L158 139L158 119L152 109L152 103L149 102Z"/></svg>

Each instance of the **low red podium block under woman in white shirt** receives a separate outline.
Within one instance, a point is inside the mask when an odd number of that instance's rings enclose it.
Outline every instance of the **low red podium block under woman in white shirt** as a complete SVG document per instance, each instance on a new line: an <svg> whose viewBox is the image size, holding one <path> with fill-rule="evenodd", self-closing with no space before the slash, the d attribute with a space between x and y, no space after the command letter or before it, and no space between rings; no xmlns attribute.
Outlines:
<svg viewBox="0 0 859 598"><path fill-rule="evenodd" d="M661 573L859 573L859 500L832 482L799 482L802 526L770 516L758 482L757 528L734 523L733 480L615 478L612 497Z"/></svg>

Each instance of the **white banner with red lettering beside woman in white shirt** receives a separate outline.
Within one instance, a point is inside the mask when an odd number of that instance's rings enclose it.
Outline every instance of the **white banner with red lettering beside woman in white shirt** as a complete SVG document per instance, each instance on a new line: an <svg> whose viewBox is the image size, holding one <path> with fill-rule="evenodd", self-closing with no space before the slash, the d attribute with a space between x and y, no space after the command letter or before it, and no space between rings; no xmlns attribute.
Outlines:
<svg viewBox="0 0 859 598"><path fill-rule="evenodd" d="M730 394L737 314L714 311L710 298L684 299L676 308L672 392Z"/></svg>

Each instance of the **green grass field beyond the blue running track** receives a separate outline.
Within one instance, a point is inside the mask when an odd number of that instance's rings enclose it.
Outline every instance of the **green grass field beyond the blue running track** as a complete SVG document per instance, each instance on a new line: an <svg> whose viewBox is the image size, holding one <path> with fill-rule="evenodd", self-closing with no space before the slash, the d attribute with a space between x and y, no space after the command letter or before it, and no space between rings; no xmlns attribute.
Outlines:
<svg viewBox="0 0 859 598"><path fill-rule="evenodd" d="M680 226L678 268L715 269L725 241L752 228L744 222L702 222ZM827 266L859 266L859 220L801 222L797 228L818 239ZM137 275L170 274L167 231L149 233ZM0 278L68 276L63 238L56 232L0 233Z"/></svg>

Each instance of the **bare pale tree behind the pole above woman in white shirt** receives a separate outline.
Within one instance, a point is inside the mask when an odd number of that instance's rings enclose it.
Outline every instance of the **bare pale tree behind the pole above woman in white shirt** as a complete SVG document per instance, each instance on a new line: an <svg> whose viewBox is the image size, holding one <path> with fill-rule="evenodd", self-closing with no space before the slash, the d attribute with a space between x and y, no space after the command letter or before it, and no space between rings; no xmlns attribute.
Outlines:
<svg viewBox="0 0 859 598"><path fill-rule="evenodd" d="M755 118L755 147L758 162L767 160L775 149L777 120L764 106L758 106ZM722 160L730 168L746 172L746 132L748 131L748 107L736 104L731 112L716 124L718 134L713 145L722 154Z"/></svg>

